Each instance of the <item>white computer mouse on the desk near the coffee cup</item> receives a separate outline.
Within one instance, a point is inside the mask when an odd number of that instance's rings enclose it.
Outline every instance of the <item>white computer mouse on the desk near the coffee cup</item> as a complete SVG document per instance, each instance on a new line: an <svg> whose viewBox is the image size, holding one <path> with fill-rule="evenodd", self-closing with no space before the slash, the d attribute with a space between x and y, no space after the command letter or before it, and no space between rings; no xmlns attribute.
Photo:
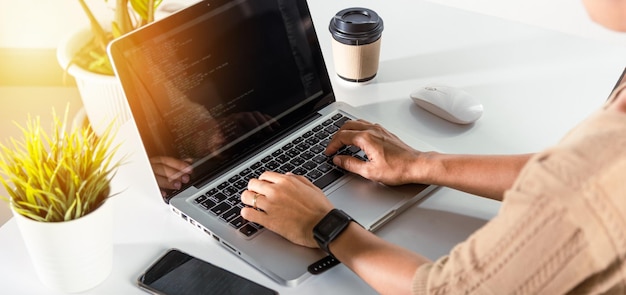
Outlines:
<svg viewBox="0 0 626 295"><path fill-rule="evenodd" d="M469 93L445 85L425 85L411 92L423 109L457 124L470 124L483 114L483 105Z"/></svg>

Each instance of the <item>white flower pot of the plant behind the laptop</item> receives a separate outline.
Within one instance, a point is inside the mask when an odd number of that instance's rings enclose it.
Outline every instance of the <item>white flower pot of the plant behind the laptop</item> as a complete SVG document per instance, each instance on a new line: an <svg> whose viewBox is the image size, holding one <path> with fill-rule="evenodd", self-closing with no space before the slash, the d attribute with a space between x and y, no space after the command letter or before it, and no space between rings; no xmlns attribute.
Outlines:
<svg viewBox="0 0 626 295"><path fill-rule="evenodd" d="M86 28L62 40L57 47L57 59L63 69L67 68L74 54L90 38L91 31ZM76 80L83 107L97 135L102 135L113 120L115 120L114 127L119 127L130 120L131 114L126 97L115 76L93 73L77 65L72 65L67 69Z"/></svg>

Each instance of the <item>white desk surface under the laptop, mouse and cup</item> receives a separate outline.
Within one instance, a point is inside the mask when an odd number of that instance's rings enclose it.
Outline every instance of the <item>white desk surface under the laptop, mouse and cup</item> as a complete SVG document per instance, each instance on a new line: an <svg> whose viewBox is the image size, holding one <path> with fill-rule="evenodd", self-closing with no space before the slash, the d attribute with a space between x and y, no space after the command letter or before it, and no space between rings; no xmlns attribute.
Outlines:
<svg viewBox="0 0 626 295"><path fill-rule="evenodd" d="M626 65L623 48L418 0L311 1L338 100L372 112L385 126L412 132L442 151L518 153L556 142L598 108ZM334 75L328 22L350 6L376 10L385 21L380 71L373 83L350 86ZM558 17L558 16L556 16ZM472 126L445 122L408 98L418 85L443 82L482 100ZM133 149L132 141L126 148ZM140 272L176 247L246 276L281 294L369 294L345 266L284 287L171 214L142 162L124 166L110 202L115 210L115 261L108 279L89 294L143 294ZM132 181L132 182L131 182ZM132 184L131 184L132 183ZM499 203L447 188L391 221L378 234L436 259L492 218ZM6 294L53 294L35 278L13 220L0 228L0 286Z"/></svg>

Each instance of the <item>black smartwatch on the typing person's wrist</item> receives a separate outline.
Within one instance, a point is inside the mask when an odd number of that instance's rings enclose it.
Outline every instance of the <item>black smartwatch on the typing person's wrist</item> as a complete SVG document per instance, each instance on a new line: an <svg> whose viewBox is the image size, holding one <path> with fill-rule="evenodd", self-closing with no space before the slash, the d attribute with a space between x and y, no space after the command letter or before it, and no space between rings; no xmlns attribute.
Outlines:
<svg viewBox="0 0 626 295"><path fill-rule="evenodd" d="M333 209L313 228L313 238L320 249L329 255L328 245L334 241L354 221L350 215L339 209Z"/></svg>

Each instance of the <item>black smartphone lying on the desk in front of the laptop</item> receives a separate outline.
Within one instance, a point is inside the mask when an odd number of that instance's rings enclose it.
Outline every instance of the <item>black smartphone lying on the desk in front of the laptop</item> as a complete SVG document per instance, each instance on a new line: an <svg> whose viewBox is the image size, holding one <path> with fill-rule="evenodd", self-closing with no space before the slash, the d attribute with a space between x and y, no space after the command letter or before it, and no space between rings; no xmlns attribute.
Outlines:
<svg viewBox="0 0 626 295"><path fill-rule="evenodd" d="M278 294L268 287L170 249L139 277L140 288L152 294Z"/></svg>

